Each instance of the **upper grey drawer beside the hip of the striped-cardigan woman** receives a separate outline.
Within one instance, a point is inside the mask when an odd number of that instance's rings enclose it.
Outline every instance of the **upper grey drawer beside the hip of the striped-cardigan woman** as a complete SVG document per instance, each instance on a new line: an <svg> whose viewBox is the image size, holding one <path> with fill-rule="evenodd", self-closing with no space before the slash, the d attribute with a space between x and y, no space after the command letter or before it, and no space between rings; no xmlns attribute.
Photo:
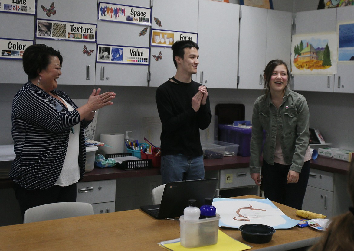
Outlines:
<svg viewBox="0 0 354 251"><path fill-rule="evenodd" d="M115 180L98 180L77 183L77 202L102 203L115 201Z"/></svg>

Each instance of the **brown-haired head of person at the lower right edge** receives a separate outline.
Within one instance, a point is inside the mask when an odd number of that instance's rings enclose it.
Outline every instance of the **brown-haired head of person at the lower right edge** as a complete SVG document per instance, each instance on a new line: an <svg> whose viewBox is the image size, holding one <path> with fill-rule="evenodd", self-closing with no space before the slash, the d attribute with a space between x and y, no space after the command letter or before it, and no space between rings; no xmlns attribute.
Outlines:
<svg viewBox="0 0 354 251"><path fill-rule="evenodd" d="M352 161L348 175L348 189L352 205L354 204L354 162ZM321 240L310 251L353 251L354 250L354 208L333 217L329 228Z"/></svg>

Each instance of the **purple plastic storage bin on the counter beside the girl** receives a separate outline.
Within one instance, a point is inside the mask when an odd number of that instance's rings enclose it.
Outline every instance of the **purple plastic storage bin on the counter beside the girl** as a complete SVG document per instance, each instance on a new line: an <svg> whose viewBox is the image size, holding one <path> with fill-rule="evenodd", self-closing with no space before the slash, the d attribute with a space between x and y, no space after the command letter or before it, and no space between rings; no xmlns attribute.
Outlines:
<svg viewBox="0 0 354 251"><path fill-rule="evenodd" d="M233 125L219 124L219 139L224 142L238 144L237 155L250 156L252 128L240 128Z"/></svg>

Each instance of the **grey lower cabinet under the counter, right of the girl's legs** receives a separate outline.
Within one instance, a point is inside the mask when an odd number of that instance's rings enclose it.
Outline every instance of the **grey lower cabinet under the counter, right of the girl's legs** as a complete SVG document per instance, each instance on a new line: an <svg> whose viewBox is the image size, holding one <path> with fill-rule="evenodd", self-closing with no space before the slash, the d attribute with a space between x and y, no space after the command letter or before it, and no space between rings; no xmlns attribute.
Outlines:
<svg viewBox="0 0 354 251"><path fill-rule="evenodd" d="M347 175L310 169L303 210L331 218L346 212L349 206Z"/></svg>

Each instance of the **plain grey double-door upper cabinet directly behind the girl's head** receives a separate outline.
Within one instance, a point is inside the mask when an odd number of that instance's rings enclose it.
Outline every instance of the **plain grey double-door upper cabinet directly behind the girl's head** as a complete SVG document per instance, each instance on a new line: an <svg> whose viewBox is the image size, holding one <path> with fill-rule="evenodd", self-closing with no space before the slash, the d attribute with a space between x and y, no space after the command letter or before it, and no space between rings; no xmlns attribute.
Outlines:
<svg viewBox="0 0 354 251"><path fill-rule="evenodd" d="M241 5L239 89L263 89L270 60L290 63L292 13Z"/></svg>

